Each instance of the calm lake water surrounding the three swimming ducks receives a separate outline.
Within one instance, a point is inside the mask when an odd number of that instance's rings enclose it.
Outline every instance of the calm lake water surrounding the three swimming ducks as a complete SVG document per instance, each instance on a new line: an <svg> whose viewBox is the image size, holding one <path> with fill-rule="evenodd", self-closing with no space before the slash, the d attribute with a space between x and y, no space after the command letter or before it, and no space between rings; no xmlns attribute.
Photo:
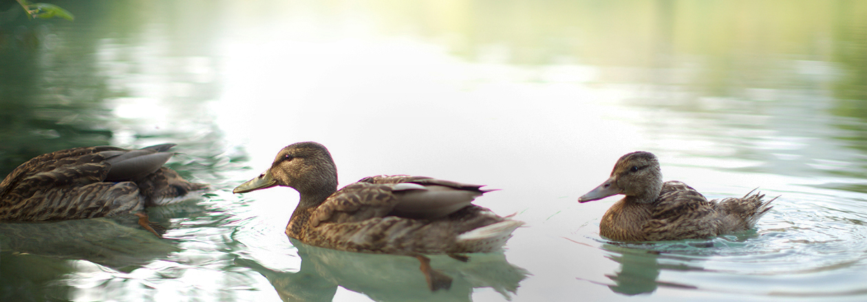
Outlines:
<svg viewBox="0 0 867 302"><path fill-rule="evenodd" d="M0 7L0 172L82 145L177 143L204 196L0 224L3 301L867 300L867 3L58 1ZM298 141L341 186L410 174L500 189L527 222L429 292L409 257L290 241L294 190L231 189ZM623 244L629 151L709 198L780 196L757 228Z"/></svg>

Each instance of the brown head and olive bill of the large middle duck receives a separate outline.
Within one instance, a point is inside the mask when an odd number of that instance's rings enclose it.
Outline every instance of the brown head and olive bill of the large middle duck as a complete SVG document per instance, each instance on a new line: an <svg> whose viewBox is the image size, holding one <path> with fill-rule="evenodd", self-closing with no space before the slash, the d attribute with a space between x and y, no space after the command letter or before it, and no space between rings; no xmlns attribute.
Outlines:
<svg viewBox="0 0 867 302"><path fill-rule="evenodd" d="M232 193L246 193L275 186L298 191L302 200L325 200L337 190L337 168L325 146L314 142L288 145L274 157L271 168L241 183Z"/></svg>

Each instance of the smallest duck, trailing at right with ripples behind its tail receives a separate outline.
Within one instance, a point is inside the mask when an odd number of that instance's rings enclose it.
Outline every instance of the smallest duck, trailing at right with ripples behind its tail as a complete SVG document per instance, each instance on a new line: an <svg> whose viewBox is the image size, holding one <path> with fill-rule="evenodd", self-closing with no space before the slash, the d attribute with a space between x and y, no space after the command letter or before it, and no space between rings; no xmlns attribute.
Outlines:
<svg viewBox="0 0 867 302"><path fill-rule="evenodd" d="M656 156L636 151L620 157L611 177L578 202L623 194L603 215L599 235L614 241L677 241L753 228L777 198L763 202L764 195L752 193L707 201L686 183L662 183Z"/></svg>

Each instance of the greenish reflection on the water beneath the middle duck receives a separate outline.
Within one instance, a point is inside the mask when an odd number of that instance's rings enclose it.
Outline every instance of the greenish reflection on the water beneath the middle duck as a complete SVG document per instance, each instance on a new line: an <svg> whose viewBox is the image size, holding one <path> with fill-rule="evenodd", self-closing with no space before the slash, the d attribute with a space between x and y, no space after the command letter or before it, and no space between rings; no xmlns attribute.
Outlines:
<svg viewBox="0 0 867 302"><path fill-rule="evenodd" d="M376 301L470 301L473 288L480 287L491 287L511 299L510 293L515 293L529 274L506 261L503 253L471 254L466 262L447 255L431 256L431 266L453 279L449 290L433 292L412 258L344 252L290 241L302 259L297 273L274 271L255 260L235 260L238 266L267 278L284 301L331 301L337 286Z"/></svg>

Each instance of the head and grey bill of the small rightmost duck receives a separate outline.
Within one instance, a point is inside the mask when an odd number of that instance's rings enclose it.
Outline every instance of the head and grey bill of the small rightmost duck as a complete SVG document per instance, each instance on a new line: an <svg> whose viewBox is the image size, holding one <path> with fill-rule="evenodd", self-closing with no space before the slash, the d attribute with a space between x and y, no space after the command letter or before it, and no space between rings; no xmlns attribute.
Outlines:
<svg viewBox="0 0 867 302"><path fill-rule="evenodd" d="M596 189L578 197L578 202L590 202L623 194L627 201L654 202L662 190L662 171L653 153L636 151L620 157L611 176Z"/></svg>

